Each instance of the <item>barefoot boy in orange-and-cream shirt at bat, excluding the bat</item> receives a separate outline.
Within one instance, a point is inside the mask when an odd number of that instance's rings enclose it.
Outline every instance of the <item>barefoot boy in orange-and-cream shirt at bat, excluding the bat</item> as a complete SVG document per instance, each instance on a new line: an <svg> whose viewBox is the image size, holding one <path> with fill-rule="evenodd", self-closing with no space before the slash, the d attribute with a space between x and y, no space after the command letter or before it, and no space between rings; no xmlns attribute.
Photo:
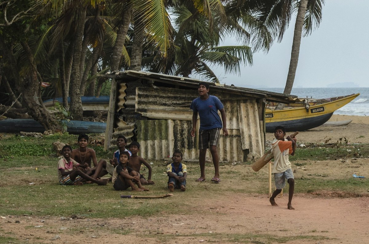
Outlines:
<svg viewBox="0 0 369 244"><path fill-rule="evenodd" d="M272 152L274 155L274 167L272 173L274 174L274 180L276 184L276 190L273 192L269 201L272 206L278 206L275 202L275 197L282 192L282 188L286 185L286 179L289 187L288 192L288 209L294 209L292 206L292 197L295 188L295 180L291 168L291 162L289 161L289 154L292 156L296 150L296 137L286 136L286 130L282 126L277 126L274 129L275 139L272 142Z"/></svg>

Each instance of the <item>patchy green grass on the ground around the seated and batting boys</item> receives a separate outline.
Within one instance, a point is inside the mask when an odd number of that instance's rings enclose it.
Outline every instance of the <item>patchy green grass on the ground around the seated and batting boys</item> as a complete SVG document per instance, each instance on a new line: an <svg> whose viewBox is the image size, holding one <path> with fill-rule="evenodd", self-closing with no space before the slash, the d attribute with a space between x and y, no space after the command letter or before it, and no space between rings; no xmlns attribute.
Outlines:
<svg viewBox="0 0 369 244"><path fill-rule="evenodd" d="M90 140L95 140L101 135L90 135ZM175 192L175 196L166 199L122 199L120 195L161 195L168 192L166 184L168 178L165 173L166 163L163 161L151 161L153 167L153 180L155 185L149 185L149 192L117 192L114 191L111 183L107 186L96 184L84 184L82 186L61 186L56 179L56 163L58 158L52 149L52 143L56 140L71 144L77 147L77 136L68 134L58 134L44 136L43 138L12 136L0 141L0 215L1 216L23 216L35 217L65 217L69 219L73 216L88 219L123 219L130 216L140 216L142 218L160 216L181 216L183 212L196 215L206 215L209 209L199 208L197 204L204 199L215 201L219 194L225 198L232 198L234 195L267 195L268 194L268 172L254 172L248 164L226 164L220 165L223 184L210 184L210 178L203 184L188 183L186 192ZM97 152L98 159L111 157L111 152L104 152L101 146L92 146ZM351 151L350 151L351 150ZM359 197L368 195L368 178L356 179L352 175L337 176L320 171L304 171L305 168L319 164L318 160L330 160L334 158L352 158L355 152L359 157L368 157L367 145L358 144L347 147L313 147L299 148L296 156L291 157L294 161L294 168L298 173L296 178L296 194L311 194L311 196L323 197ZM297 158L297 159L296 159ZM309 161L306 161L308 159ZM355 160L354 160L355 161ZM341 165L348 164L338 161ZM194 182L198 177L199 165L197 163L186 162L189 177L188 182ZM36 170L37 168L37 170ZM299 169L300 168L300 169ZM302 168L302 169L301 169ZM213 170L211 163L206 164L206 170ZM305 172L305 173L303 173ZM142 171L145 175L147 171ZM209 175L208 175L209 176ZM237 184L234 184L237 182ZM34 183L31 184L30 183ZM247 187L245 187L247 186ZM284 189L288 192L288 184ZM181 199L181 201L179 201ZM211 200L213 199L213 200ZM133 204L134 202L134 204ZM210 208L211 210L211 208ZM214 210L215 211L215 210ZM120 213L117 215L117 212ZM225 215L226 212L218 211L217 215ZM159 226L158 226L159 227ZM25 227L28 228L27 226ZM30 225L30 229L34 228ZM70 233L83 231L82 227L69 229ZM93 229L93 228L92 228ZM199 229L201 230L201 229ZM130 226L124 229L107 229L107 233L128 235L132 233ZM288 230L283 237L269 234L256 233L208 233L206 228L204 233L191 234L193 237L207 238L208 242L238 242L238 243L285 243L296 240L320 241L325 240L325 236L313 236L310 234L303 236L289 236ZM59 231L60 232L60 231ZM55 233L59 233L56 230ZM311 230L314 232L324 232ZM24 239L17 239L12 233L4 233L0 229L0 243L17 243ZM155 233L154 233L155 234ZM315 233L316 234L316 233ZM55 235L54 235L55 236ZM155 238L162 242L173 240L169 234L160 234L153 237L152 232L144 231L138 236L142 238ZM188 237L190 234L178 233L175 237ZM42 242L40 240L40 242Z"/></svg>

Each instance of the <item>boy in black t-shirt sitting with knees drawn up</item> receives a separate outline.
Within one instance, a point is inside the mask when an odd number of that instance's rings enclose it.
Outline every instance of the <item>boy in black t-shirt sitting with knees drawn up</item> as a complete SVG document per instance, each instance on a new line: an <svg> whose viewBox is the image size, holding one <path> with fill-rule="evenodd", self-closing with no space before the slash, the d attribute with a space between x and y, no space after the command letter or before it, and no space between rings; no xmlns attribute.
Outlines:
<svg viewBox="0 0 369 244"><path fill-rule="evenodd" d="M121 152L119 156L120 163L115 167L113 172L112 181L114 189L124 191L128 187L131 187L132 191L148 191L148 189L142 187L139 180L139 173L127 166L128 161L130 161L128 151Z"/></svg>

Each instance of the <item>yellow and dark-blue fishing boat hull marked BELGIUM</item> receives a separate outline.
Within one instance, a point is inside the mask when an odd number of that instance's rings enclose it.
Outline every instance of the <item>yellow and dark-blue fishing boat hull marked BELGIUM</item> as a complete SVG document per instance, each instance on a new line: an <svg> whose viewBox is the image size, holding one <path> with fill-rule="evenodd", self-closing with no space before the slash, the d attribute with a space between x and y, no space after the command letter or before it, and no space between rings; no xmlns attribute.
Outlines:
<svg viewBox="0 0 369 244"><path fill-rule="evenodd" d="M266 109L266 132L274 132L276 126L286 131L303 131L323 125L333 112L354 100L360 93L343 96L337 100L308 107L295 107L282 110Z"/></svg>

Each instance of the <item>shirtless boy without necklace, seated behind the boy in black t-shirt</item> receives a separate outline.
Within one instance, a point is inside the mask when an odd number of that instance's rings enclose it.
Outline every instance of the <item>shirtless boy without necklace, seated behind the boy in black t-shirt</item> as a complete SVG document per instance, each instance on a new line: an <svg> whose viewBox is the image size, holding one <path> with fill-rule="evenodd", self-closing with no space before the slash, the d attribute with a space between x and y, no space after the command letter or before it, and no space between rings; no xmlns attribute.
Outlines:
<svg viewBox="0 0 369 244"><path fill-rule="evenodd" d="M132 168L132 170L138 172L141 177L140 177L140 181L142 185L154 185L154 181L151 180L151 174L152 174L152 168L150 166L150 164L148 164L146 162L146 160L144 160L144 158L139 157L137 155L138 151L139 151L139 143L138 142L132 142L130 145L130 151L132 153L132 156L130 157L130 162L128 163L128 166ZM141 169L141 165L144 164L148 170L149 170L149 176L147 178L147 181L145 179L145 177L141 174L140 169Z"/></svg>

